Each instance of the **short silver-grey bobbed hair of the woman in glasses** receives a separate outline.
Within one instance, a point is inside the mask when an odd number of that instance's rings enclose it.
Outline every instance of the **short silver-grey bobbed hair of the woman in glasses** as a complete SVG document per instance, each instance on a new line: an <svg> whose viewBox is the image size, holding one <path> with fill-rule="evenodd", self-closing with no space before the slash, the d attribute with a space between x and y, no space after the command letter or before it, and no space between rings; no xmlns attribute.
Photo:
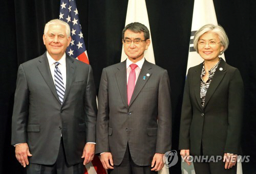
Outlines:
<svg viewBox="0 0 256 174"><path fill-rule="evenodd" d="M207 32L216 33L218 35L219 39L221 40L221 45L224 46L224 49L222 51L222 53L224 53L229 44L227 34L220 25L215 26L214 24L206 24L195 33L194 48L196 49L197 53L198 53L198 40L204 33L207 33Z"/></svg>

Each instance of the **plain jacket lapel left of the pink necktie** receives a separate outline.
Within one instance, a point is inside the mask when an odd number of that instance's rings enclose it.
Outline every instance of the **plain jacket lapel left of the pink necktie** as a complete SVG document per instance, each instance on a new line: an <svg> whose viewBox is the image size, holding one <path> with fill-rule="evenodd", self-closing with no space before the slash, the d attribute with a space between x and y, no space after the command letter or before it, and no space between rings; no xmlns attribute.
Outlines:
<svg viewBox="0 0 256 174"><path fill-rule="evenodd" d="M116 81L124 106L128 109L127 102L127 75L126 75L126 61L123 61L117 67Z"/></svg>

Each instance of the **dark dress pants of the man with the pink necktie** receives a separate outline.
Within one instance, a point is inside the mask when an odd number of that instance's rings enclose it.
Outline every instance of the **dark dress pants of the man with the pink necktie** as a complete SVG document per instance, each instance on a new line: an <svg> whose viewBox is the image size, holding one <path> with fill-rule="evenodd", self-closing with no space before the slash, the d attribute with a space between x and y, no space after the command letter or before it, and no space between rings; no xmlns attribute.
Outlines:
<svg viewBox="0 0 256 174"><path fill-rule="evenodd" d="M127 144L123 160L120 165L114 165L114 169L108 170L109 174L157 174L157 171L151 171L151 166L139 166L133 162Z"/></svg>

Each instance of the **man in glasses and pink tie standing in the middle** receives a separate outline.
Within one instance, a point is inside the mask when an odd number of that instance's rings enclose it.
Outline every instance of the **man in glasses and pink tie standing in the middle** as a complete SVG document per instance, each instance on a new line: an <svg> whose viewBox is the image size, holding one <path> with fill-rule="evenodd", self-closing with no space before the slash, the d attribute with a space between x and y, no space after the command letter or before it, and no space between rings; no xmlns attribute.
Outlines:
<svg viewBox="0 0 256 174"><path fill-rule="evenodd" d="M156 173L171 148L168 74L144 58L150 33L143 24L128 24L122 39L126 61L102 71L96 153L111 173Z"/></svg>

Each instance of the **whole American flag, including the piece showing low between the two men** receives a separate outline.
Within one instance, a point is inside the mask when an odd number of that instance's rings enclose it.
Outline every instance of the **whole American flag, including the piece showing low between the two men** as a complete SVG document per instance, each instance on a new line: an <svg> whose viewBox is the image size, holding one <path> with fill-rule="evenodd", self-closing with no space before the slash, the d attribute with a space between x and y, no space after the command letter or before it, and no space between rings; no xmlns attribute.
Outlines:
<svg viewBox="0 0 256 174"><path fill-rule="evenodd" d="M67 22L70 26L72 39L66 54L89 64L75 0L60 1L59 19ZM93 161L86 165L85 174L106 174L98 156L95 155Z"/></svg>

